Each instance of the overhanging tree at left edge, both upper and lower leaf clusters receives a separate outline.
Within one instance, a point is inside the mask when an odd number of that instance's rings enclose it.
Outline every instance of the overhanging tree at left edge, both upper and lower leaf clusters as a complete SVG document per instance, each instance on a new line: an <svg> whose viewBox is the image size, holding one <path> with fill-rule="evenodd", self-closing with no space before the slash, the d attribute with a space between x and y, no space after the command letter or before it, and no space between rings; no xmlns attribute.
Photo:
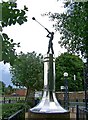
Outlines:
<svg viewBox="0 0 88 120"><path fill-rule="evenodd" d="M15 25L16 23L22 25L24 22L27 22L26 11L28 11L26 6L20 10L17 8L17 3L15 2L2 1L0 3L0 12L2 13L2 16L0 16L0 31L2 32L0 35L0 40L2 41L2 53L0 53L0 57L2 59L0 58L0 61L4 61L4 63L9 62L13 65L17 57L15 47L20 47L20 43L14 43L13 39L10 39L6 33L3 33L3 28Z"/></svg>

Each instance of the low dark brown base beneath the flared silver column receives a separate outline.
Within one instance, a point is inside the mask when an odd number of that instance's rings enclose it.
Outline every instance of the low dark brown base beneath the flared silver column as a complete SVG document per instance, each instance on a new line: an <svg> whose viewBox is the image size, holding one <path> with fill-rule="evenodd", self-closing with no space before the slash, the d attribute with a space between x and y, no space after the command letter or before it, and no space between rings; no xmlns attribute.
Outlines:
<svg viewBox="0 0 88 120"><path fill-rule="evenodd" d="M70 112L65 113L33 113L28 112L28 120L70 120Z"/></svg>

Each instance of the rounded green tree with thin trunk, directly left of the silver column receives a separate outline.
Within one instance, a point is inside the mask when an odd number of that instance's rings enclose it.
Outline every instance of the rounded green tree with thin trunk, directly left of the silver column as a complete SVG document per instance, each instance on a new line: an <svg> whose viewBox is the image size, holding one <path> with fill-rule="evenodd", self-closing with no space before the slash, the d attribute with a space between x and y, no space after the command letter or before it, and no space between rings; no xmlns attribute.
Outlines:
<svg viewBox="0 0 88 120"><path fill-rule="evenodd" d="M43 83L42 55L32 53L20 53L18 59L11 67L12 83L16 86L27 88L26 100L31 91L40 90Z"/></svg>

